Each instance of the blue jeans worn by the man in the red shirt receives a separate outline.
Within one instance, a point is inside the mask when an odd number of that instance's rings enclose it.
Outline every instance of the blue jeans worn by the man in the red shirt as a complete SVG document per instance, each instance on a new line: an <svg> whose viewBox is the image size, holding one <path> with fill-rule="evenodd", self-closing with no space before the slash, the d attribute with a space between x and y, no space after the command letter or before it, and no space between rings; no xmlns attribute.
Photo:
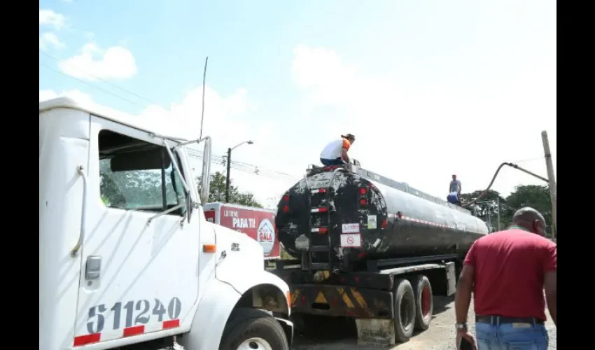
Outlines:
<svg viewBox="0 0 595 350"><path fill-rule="evenodd" d="M528 325L528 323L522 323ZM475 324L477 350L547 350L549 337L545 325L521 328L514 323Z"/></svg>

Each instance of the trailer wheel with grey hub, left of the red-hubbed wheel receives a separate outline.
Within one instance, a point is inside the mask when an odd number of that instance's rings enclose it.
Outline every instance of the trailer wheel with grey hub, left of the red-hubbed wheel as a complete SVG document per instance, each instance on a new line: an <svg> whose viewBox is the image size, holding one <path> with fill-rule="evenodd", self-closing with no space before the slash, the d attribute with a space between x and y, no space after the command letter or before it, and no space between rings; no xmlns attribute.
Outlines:
<svg viewBox="0 0 595 350"><path fill-rule="evenodd" d="M407 342L413 335L415 323L415 295L407 279L395 281L395 340Z"/></svg>

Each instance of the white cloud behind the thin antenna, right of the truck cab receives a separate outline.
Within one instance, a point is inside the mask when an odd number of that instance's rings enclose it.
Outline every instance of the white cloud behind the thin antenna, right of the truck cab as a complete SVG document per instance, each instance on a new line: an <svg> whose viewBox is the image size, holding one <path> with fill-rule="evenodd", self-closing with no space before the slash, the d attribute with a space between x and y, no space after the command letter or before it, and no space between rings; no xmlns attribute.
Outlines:
<svg viewBox="0 0 595 350"><path fill-rule="evenodd" d="M247 162L275 168L276 162L283 162L283 153L272 139L272 125L259 122L258 111L248 99L248 92L239 88L232 94L223 96L211 87L205 89L205 110L203 136L209 135L213 141L213 155L225 155L227 148L243 141L253 140L253 145L244 144L232 152L232 162ZM148 106L139 115L149 118L164 127L186 130L183 137L197 139L200 135L200 115L202 109L202 87L190 90L181 102L169 106L169 111L161 106ZM164 123L164 120L166 121ZM166 129L167 130L167 129ZM165 130L164 133L167 133ZM273 158L268 155L274 154ZM223 172L225 167L214 162L213 172ZM295 179L276 176L260 176L232 169L231 179L241 191L255 195L262 204L276 205L276 201Z"/></svg>

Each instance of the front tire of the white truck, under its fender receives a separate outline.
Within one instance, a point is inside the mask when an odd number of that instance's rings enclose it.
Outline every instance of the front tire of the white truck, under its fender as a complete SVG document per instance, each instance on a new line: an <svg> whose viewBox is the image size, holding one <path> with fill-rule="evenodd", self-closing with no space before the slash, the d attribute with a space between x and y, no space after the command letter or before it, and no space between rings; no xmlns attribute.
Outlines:
<svg viewBox="0 0 595 350"><path fill-rule="evenodd" d="M279 322L265 311L237 309L225 325L219 350L289 350Z"/></svg>

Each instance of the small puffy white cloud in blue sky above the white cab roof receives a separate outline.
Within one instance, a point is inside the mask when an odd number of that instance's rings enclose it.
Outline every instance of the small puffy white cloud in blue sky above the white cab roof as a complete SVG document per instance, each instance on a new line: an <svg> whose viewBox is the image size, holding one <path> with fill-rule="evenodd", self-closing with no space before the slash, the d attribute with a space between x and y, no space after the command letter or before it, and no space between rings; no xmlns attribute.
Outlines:
<svg viewBox="0 0 595 350"><path fill-rule="evenodd" d="M95 43L85 44L79 55L60 61L58 66L69 76L86 80L123 80L137 73L132 52L121 46L102 50Z"/></svg>

